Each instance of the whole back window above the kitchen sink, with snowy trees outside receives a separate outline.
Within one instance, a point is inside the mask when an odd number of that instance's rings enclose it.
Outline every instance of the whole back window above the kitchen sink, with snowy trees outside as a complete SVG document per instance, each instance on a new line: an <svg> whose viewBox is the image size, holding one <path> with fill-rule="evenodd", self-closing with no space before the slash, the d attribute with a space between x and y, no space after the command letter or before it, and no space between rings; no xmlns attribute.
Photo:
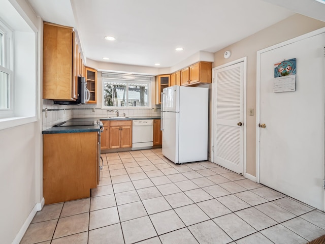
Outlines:
<svg viewBox="0 0 325 244"><path fill-rule="evenodd" d="M152 76L102 73L104 107L141 107L151 106Z"/></svg>

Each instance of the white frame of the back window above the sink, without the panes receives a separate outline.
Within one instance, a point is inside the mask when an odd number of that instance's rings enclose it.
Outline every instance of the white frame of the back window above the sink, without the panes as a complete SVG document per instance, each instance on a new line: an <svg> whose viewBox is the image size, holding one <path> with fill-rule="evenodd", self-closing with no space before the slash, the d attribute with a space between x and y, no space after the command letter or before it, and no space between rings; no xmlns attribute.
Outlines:
<svg viewBox="0 0 325 244"><path fill-rule="evenodd" d="M147 93L148 93L148 97L147 97L147 106L106 106L105 105L105 93L104 93L104 87L105 87L105 82L110 82L110 81L115 81L115 82L120 82L120 83L125 83L126 86L126 100L128 101L128 87L129 85L131 85L132 83L141 83L141 84L146 84L147 85ZM102 108L105 109L150 109L151 108L151 81L142 81L142 80L138 80L138 79L119 79L119 78L102 78Z"/></svg>

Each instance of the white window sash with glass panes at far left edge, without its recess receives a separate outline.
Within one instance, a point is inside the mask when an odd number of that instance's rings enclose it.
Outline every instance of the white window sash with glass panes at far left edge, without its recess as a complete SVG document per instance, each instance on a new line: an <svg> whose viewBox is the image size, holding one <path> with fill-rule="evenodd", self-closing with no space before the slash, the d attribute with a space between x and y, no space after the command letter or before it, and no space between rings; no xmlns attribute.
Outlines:
<svg viewBox="0 0 325 244"><path fill-rule="evenodd" d="M0 21L0 115L12 113L12 32Z"/></svg>

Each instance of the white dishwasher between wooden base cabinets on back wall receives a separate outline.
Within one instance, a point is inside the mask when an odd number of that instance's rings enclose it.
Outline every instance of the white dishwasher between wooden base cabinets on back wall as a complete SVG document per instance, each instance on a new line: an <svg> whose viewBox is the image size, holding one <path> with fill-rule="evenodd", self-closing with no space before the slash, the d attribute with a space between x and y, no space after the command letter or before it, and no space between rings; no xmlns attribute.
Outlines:
<svg viewBox="0 0 325 244"><path fill-rule="evenodd" d="M133 120L132 150L148 149L153 146L153 119Z"/></svg>

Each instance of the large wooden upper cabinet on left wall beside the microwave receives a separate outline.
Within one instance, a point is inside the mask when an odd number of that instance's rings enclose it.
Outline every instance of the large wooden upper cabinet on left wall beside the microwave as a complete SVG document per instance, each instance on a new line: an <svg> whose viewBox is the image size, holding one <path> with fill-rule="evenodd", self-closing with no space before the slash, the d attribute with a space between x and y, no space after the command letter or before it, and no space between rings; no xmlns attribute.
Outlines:
<svg viewBox="0 0 325 244"><path fill-rule="evenodd" d="M78 98L78 50L72 27L44 22L43 99Z"/></svg>

